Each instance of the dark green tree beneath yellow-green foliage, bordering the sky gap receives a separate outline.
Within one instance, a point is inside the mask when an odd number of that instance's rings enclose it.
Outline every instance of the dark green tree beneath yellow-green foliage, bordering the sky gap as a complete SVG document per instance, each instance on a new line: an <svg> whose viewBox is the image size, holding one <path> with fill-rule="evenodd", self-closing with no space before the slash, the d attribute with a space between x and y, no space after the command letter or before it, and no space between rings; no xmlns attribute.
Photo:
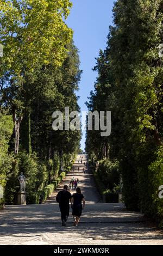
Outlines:
<svg viewBox="0 0 163 256"><path fill-rule="evenodd" d="M70 107L70 112L80 110L75 94L81 74L78 50L73 44L69 46L69 50L60 69L54 70L52 66L48 66L46 70L40 70L39 79L34 83L37 86L31 113L32 148L47 160L53 159L56 152L60 155L61 151L73 153L80 141L79 131L52 130L54 111L64 113L67 106Z"/></svg>

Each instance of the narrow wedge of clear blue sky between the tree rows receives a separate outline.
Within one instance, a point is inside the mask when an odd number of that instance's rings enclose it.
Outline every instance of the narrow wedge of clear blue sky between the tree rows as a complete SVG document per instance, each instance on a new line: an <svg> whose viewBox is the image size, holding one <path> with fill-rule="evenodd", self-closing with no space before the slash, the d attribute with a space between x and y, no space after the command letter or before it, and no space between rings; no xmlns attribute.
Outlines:
<svg viewBox="0 0 163 256"><path fill-rule="evenodd" d="M85 102L90 96L96 81L97 73L92 71L96 64L99 49L106 47L109 26L112 25L112 8L115 0L72 0L73 7L66 23L74 31L74 44L79 49L80 69L83 70L79 106L87 111ZM85 132L81 141L85 148Z"/></svg>

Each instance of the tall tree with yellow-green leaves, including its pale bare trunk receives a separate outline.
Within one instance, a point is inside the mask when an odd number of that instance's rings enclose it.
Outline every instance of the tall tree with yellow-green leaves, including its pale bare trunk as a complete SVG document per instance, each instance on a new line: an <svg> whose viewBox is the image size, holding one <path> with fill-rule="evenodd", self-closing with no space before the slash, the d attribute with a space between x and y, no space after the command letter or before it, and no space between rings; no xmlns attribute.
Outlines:
<svg viewBox="0 0 163 256"><path fill-rule="evenodd" d="M33 80L32 73L38 65L51 64L54 69L61 66L67 54L65 45L72 40L72 30L63 21L70 7L68 0L0 1L0 42L4 46L0 74L2 79L8 76L3 97L12 109L15 154L18 154L21 121L29 111L24 92L26 78L30 71Z"/></svg>

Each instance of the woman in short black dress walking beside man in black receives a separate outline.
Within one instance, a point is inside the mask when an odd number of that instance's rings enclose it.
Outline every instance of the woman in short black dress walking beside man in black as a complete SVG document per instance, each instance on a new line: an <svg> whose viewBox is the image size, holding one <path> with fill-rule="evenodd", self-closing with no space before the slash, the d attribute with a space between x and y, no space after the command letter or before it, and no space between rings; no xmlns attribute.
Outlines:
<svg viewBox="0 0 163 256"><path fill-rule="evenodd" d="M76 189L77 193L74 193L72 195L72 202L71 202L71 208L72 208L72 215L74 218L74 226L77 226L80 221L80 216L82 215L82 210L85 206L85 199L83 194L81 193L81 190L79 187ZM83 206L82 206L83 202Z"/></svg>

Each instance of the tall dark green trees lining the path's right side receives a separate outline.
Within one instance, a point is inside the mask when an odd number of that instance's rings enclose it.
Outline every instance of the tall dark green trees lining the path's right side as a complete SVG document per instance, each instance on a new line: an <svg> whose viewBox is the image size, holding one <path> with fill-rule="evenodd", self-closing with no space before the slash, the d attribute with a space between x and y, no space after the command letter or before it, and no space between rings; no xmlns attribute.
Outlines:
<svg viewBox="0 0 163 256"><path fill-rule="evenodd" d="M106 191L120 188L122 178L127 208L163 225L158 197L163 185L162 43L163 1L116 1L114 25L106 49L99 52L99 76L87 102L90 111L111 111L111 135L88 131L86 151Z"/></svg>

